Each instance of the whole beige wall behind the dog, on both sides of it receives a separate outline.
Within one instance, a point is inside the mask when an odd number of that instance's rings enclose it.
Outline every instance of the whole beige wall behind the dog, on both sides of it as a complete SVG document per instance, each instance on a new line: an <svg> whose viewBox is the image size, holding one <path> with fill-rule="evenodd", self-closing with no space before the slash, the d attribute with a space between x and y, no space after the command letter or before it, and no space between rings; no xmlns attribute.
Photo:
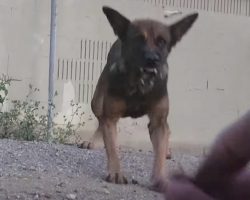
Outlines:
<svg viewBox="0 0 250 200"><path fill-rule="evenodd" d="M115 39L101 12L104 4L112 5L131 19L150 17L167 22L162 6L142 0L59 0L57 57L59 62L78 63L77 70L79 63L94 63L95 77L85 86L95 85L100 73L98 66L104 60L81 57L81 41L87 39L97 44ZM32 83L41 89L36 98L47 100L49 6L49 0L0 0L0 72L22 80L13 83L10 98L23 98L28 83ZM193 11L168 9L184 14ZM169 58L169 121L173 141L208 144L222 127L250 108L250 18L210 11L199 13L197 23ZM78 98L82 82L65 77L56 80L60 94L56 103L61 113L70 113L68 102L72 98L83 101ZM91 114L88 104L84 108ZM137 138L136 141L148 142L145 124L145 118L137 123L122 120L124 141L130 143ZM88 121L86 129L92 131L94 126L95 122ZM135 132L137 137L131 134Z"/></svg>

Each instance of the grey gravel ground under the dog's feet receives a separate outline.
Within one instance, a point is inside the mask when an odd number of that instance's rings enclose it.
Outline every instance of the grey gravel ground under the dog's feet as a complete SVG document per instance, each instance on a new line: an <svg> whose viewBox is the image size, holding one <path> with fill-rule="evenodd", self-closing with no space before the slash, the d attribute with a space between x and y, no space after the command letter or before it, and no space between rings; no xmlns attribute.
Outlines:
<svg viewBox="0 0 250 200"><path fill-rule="evenodd" d="M69 145L0 140L0 199L163 199L148 189L152 152L122 148L120 157L128 185L104 181L104 149L90 151ZM201 157L174 151L173 159L167 162L168 172L191 174ZM138 184L132 184L132 180Z"/></svg>

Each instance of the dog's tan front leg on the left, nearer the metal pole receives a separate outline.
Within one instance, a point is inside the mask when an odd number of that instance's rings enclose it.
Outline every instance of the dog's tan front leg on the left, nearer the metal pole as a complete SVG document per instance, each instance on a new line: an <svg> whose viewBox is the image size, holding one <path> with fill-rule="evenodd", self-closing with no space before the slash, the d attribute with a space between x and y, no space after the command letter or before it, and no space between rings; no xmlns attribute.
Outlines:
<svg viewBox="0 0 250 200"><path fill-rule="evenodd" d="M118 119L103 120L103 140L108 158L108 176L106 181L127 184L127 179L123 176L120 167L120 161L117 153L117 121Z"/></svg>

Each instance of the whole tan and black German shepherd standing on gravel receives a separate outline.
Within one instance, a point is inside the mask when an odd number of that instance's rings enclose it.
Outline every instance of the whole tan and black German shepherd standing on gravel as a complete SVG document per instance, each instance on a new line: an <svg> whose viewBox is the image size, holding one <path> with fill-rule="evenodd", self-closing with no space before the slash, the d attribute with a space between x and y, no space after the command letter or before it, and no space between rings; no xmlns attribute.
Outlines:
<svg viewBox="0 0 250 200"><path fill-rule="evenodd" d="M103 136L108 159L108 176L112 183L126 184L117 153L117 122L122 117L149 117L149 134L155 160L152 173L154 186L165 179L165 158L170 135L167 116L167 57L172 47L192 26L198 14L192 14L167 26L145 19L130 21L116 10L103 7L118 39L108 54L107 64L98 80L91 108L99 126L91 142Z"/></svg>

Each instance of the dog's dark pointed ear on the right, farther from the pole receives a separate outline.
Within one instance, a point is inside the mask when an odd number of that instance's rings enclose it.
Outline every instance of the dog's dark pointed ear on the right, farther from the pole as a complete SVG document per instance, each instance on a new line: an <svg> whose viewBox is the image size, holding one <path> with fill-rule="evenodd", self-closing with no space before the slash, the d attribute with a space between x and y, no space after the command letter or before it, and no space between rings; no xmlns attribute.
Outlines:
<svg viewBox="0 0 250 200"><path fill-rule="evenodd" d="M171 47L181 40L182 36L192 27L197 18L198 13L191 14L170 26Z"/></svg>

